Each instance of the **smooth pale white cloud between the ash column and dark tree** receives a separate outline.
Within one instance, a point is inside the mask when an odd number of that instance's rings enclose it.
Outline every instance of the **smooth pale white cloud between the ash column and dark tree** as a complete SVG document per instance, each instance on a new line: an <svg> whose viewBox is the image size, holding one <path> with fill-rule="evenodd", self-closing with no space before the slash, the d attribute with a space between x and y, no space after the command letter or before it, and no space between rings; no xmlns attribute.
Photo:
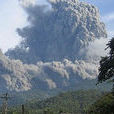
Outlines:
<svg viewBox="0 0 114 114"><path fill-rule="evenodd" d="M101 57L106 56L109 52L109 50L105 50L108 42L109 38L96 39L90 42L86 48L80 50L80 56L83 56L84 52L86 52L85 59L99 61Z"/></svg>

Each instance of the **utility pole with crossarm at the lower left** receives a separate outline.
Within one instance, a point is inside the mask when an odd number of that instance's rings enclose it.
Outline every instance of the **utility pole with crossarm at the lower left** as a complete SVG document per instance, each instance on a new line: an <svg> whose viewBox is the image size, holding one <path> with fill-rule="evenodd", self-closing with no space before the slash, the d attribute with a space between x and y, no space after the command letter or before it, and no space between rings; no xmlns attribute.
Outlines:
<svg viewBox="0 0 114 114"><path fill-rule="evenodd" d="M8 100L10 99L10 97L8 96L8 93L6 93L6 94L3 94L0 98L3 99L2 114L7 114Z"/></svg>

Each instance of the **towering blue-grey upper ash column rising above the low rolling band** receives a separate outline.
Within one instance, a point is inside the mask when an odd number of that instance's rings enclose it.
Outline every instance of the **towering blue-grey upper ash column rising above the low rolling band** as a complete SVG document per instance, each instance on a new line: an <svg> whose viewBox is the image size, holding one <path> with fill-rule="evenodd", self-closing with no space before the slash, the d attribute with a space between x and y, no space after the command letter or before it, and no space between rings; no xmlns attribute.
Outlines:
<svg viewBox="0 0 114 114"><path fill-rule="evenodd" d="M23 38L20 46L9 50L10 58L25 63L37 61L71 61L80 59L79 52L91 41L107 37L98 9L78 0L48 0L46 6L26 8L29 25L18 29ZM26 51L28 49L28 51Z"/></svg>

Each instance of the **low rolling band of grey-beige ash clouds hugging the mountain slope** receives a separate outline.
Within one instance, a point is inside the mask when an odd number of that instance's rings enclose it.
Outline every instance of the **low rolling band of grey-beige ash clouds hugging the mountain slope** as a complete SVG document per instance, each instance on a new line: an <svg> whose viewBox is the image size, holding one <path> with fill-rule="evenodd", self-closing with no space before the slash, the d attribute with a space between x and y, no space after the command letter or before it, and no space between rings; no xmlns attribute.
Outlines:
<svg viewBox="0 0 114 114"><path fill-rule="evenodd" d="M30 89L64 89L79 86L84 79L95 79L98 64L88 61L38 62L23 64L0 52L0 92Z"/></svg>

